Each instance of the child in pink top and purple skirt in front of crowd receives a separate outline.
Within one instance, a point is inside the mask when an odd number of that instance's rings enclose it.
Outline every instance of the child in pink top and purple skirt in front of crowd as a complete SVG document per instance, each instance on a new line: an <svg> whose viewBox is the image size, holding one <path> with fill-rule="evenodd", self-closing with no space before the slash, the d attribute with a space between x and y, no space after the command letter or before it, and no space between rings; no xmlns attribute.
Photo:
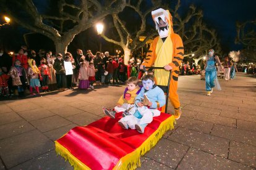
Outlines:
<svg viewBox="0 0 256 170"><path fill-rule="evenodd" d="M86 67L86 63L82 62L80 64L80 69L79 69L79 89L88 89L90 85L90 81L88 80L88 71Z"/></svg>

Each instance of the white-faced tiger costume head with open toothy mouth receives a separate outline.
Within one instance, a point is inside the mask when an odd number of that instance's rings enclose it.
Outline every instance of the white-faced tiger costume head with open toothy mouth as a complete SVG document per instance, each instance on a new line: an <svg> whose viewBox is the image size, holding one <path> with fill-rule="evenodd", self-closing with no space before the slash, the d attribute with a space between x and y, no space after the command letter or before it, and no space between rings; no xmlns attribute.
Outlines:
<svg viewBox="0 0 256 170"><path fill-rule="evenodd" d="M156 9L151 12L151 15L160 38L166 38L173 33L173 20L169 10Z"/></svg>

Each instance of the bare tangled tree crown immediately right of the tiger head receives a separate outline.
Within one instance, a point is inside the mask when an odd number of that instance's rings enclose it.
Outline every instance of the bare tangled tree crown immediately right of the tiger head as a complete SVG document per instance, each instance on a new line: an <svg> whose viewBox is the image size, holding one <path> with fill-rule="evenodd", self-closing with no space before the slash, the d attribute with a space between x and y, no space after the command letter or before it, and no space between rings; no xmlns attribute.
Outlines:
<svg viewBox="0 0 256 170"><path fill-rule="evenodd" d="M195 58L202 57L210 48L220 53L221 47L216 31L203 23L203 11L192 4L185 17L181 17L177 12L180 6L179 0L171 13L174 18L174 32L181 36L184 44L184 57L191 57L192 54Z"/></svg>

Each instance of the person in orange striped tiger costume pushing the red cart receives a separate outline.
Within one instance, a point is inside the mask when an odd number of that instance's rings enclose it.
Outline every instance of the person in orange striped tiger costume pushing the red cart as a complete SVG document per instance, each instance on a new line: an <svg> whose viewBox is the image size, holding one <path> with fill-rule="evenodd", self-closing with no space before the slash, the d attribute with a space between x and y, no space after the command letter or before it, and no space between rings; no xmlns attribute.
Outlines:
<svg viewBox="0 0 256 170"><path fill-rule="evenodd" d="M147 57L144 59L140 69L145 67L164 67L165 70L155 70L155 81L158 86L167 86L169 70L172 71L171 82L169 85L169 99L174 107L174 118L181 116L181 105L177 94L177 81L179 66L183 60L184 47L181 37L173 31L173 20L169 10L156 9L151 12L156 24L157 36L148 50Z"/></svg>

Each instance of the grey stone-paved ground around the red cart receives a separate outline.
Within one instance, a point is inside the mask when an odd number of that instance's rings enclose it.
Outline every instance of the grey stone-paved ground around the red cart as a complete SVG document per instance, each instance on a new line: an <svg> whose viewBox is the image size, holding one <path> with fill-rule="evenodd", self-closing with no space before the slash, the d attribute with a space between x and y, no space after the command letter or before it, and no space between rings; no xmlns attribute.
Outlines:
<svg viewBox="0 0 256 170"><path fill-rule="evenodd" d="M200 76L179 77L182 117L142 158L139 169L255 169L256 78L220 80L205 95ZM104 115L123 87L65 91L0 102L0 169L73 169L54 152L54 140ZM173 109L169 107L169 112Z"/></svg>

